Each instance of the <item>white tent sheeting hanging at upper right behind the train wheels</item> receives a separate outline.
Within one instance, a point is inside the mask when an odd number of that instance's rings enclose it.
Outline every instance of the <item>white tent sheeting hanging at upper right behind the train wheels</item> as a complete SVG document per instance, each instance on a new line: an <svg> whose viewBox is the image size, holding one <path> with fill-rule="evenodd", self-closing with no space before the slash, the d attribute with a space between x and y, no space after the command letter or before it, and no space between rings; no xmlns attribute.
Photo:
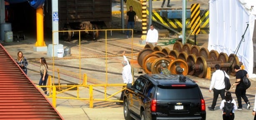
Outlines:
<svg viewBox="0 0 256 120"><path fill-rule="evenodd" d="M236 54L235 50L245 33L236 55L249 76L252 75L256 0L209 0L209 13L208 50Z"/></svg>

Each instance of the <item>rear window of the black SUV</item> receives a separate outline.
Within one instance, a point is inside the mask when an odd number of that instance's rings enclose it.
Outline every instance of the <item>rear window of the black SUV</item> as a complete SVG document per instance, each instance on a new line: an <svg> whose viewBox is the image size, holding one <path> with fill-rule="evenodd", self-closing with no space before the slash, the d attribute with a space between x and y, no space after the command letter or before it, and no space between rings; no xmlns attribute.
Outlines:
<svg viewBox="0 0 256 120"><path fill-rule="evenodd" d="M198 87L158 87L157 99L198 99L200 98Z"/></svg>

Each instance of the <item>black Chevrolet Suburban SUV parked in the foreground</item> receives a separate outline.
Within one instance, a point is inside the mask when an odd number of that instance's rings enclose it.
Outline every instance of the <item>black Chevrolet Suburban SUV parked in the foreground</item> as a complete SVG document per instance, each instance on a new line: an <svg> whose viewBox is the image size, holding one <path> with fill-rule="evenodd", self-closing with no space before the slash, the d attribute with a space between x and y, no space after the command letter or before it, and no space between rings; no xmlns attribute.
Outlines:
<svg viewBox="0 0 256 120"><path fill-rule="evenodd" d="M123 97L125 120L206 120L199 86L183 75L141 75Z"/></svg>

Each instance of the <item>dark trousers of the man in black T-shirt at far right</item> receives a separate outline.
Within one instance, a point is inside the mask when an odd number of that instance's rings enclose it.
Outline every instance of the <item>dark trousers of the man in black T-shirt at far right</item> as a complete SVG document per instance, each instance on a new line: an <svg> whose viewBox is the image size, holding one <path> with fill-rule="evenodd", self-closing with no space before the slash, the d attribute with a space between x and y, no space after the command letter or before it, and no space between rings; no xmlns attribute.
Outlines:
<svg viewBox="0 0 256 120"><path fill-rule="evenodd" d="M237 98L237 102L238 102L238 107L243 107L242 105L242 99L241 97L243 98L243 101L246 102L249 102L248 98L246 97L246 89L242 88L242 87L236 87L236 98Z"/></svg>

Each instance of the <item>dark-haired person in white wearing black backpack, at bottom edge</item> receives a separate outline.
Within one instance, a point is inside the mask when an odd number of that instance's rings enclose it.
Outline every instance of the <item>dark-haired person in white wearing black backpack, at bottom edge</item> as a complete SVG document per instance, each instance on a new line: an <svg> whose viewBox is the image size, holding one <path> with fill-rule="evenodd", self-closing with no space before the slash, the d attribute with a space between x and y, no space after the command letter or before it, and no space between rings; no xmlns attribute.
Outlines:
<svg viewBox="0 0 256 120"><path fill-rule="evenodd" d="M223 113L223 120L234 120L235 110L237 110L237 106L236 101L232 98L230 92L226 92L225 99L221 101L220 109Z"/></svg>

